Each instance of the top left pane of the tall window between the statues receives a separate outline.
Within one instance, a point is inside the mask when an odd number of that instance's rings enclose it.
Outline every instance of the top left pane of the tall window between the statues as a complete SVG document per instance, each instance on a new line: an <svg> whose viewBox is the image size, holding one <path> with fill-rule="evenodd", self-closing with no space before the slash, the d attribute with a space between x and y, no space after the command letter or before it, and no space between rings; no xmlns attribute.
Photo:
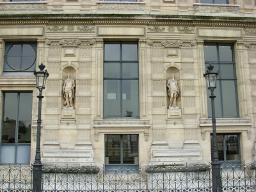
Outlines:
<svg viewBox="0 0 256 192"><path fill-rule="evenodd" d="M120 61L120 44L105 44L105 61Z"/></svg>

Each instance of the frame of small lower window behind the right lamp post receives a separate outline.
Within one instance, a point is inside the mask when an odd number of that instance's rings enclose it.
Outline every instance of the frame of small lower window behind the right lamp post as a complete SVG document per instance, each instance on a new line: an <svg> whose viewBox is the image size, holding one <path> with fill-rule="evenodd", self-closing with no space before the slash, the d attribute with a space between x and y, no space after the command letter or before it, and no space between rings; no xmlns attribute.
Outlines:
<svg viewBox="0 0 256 192"><path fill-rule="evenodd" d="M228 160L227 161L227 142L225 140L225 136L227 135L236 135L237 136L237 147L238 147L238 157L239 160ZM233 132L227 132L227 133L217 133L217 137L222 136L223 137L223 156L224 160L220 161L221 163L235 163L235 164L241 164L241 145L240 145L240 134L239 133L233 133ZM217 146L218 147L218 146ZM219 154L219 150L218 150ZM212 158L212 133L211 133L211 158ZM220 157L219 157L220 160Z"/></svg>

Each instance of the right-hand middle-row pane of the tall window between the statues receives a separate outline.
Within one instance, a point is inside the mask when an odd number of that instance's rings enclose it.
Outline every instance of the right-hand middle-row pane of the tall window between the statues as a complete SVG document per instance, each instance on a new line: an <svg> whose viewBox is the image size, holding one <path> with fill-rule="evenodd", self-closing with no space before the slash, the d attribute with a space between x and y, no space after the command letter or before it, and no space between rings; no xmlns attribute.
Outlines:
<svg viewBox="0 0 256 192"><path fill-rule="evenodd" d="M138 63L122 63L123 78L138 78L139 70Z"/></svg>

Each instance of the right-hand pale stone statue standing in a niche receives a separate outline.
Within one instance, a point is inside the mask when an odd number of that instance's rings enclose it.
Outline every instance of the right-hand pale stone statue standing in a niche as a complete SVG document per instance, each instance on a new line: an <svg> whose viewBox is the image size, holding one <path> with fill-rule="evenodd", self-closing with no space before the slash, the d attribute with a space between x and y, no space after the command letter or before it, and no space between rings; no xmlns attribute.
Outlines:
<svg viewBox="0 0 256 192"><path fill-rule="evenodd" d="M168 95L170 97L170 106L169 108L177 108L176 106L176 99L180 93L177 80L175 79L174 74L170 74L171 79L168 80L167 82L167 87L168 87Z"/></svg>

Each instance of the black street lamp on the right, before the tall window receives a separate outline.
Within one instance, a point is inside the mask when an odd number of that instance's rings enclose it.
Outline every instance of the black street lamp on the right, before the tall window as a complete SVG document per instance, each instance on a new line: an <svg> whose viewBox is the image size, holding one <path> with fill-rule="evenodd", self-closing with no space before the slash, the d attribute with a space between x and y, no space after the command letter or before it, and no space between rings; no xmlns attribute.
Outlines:
<svg viewBox="0 0 256 192"><path fill-rule="evenodd" d="M218 157L218 148L217 148L217 134L216 134L216 118L215 118L215 108L214 108L214 98L213 95L214 89L216 88L216 80L218 72L212 72L213 66L209 65L208 70L206 70L204 77L206 79L207 88L211 90L212 103L212 191L218 192L221 191L221 175L220 175L220 166L221 163Z"/></svg>

